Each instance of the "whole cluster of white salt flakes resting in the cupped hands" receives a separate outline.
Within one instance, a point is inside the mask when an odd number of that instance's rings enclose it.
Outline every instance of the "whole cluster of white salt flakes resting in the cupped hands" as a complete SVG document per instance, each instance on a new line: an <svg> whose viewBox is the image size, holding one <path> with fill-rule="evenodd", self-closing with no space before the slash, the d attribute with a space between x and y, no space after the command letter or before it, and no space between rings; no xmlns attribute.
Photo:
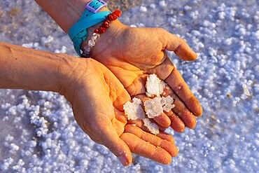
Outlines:
<svg viewBox="0 0 259 173"><path fill-rule="evenodd" d="M146 81L146 96L148 98L144 100L144 109L141 106L141 99L135 97L132 99L133 102L127 102L123 107L127 118L129 120L143 120L144 126L150 132L159 134L159 126L151 119L161 116L164 111L169 112L175 106L174 99L170 95L162 96L165 95L165 87L166 84L155 74L148 76ZM160 124L160 121L157 123ZM161 124L161 126L163 125Z"/></svg>

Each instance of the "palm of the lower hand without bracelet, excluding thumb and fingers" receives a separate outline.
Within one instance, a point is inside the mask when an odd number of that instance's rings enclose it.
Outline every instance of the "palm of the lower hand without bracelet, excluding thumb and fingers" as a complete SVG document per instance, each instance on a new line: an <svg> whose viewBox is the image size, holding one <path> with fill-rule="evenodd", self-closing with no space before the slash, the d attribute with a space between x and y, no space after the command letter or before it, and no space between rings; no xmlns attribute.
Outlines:
<svg viewBox="0 0 259 173"><path fill-rule="evenodd" d="M123 104L130 95L115 76L102 64L92 59L80 59L76 68L76 81L65 97L71 102L78 125L93 139L102 144L104 127L111 127L117 136L123 134L127 119ZM85 116L85 114L87 116ZM100 133L100 134L99 134Z"/></svg>

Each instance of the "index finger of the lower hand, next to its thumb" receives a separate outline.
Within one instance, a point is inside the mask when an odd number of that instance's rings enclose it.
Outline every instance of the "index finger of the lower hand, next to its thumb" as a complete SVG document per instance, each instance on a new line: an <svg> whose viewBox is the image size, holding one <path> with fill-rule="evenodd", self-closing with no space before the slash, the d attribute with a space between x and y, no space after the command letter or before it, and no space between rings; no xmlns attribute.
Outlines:
<svg viewBox="0 0 259 173"><path fill-rule="evenodd" d="M165 149L158 148L142 139L139 139L139 137L134 134L123 133L120 138L127 143L132 153L136 153L137 155L150 158L155 160L155 162L160 162L166 165L169 165L172 162L172 156L165 151Z"/></svg>

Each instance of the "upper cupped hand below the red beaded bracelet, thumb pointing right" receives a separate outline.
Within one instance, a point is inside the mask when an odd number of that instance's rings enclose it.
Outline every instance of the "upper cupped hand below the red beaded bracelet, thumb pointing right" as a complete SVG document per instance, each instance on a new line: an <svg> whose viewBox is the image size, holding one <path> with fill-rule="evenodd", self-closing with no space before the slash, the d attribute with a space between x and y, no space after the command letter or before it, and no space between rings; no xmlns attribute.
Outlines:
<svg viewBox="0 0 259 173"><path fill-rule="evenodd" d="M92 33L94 28L96 26L88 32ZM185 126L195 127L195 116L202 116L202 106L165 50L174 51L182 60L197 58L183 39L165 29L131 28L116 20L92 48L92 57L108 67L131 96L144 94L146 77L157 74L168 84L167 95L176 100L174 109L167 113L172 120L171 126L177 132L183 132Z"/></svg>

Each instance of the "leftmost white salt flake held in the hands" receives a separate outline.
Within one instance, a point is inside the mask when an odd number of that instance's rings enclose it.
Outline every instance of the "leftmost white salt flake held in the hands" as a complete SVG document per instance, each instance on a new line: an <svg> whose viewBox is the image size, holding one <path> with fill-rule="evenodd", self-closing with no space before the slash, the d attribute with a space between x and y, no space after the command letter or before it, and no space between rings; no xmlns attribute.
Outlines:
<svg viewBox="0 0 259 173"><path fill-rule="evenodd" d="M134 98L133 102L127 102L123 105L123 109L129 120L142 120L145 118L145 112L141 106L141 99Z"/></svg>

